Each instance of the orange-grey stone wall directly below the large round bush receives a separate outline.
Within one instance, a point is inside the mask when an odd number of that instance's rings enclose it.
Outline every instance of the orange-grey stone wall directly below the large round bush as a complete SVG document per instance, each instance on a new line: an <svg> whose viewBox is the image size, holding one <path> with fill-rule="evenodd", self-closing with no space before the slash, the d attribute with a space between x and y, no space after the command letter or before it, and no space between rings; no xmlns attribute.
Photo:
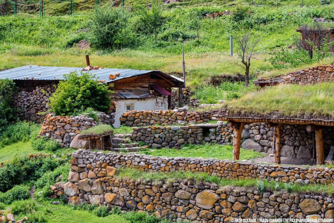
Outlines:
<svg viewBox="0 0 334 223"><path fill-rule="evenodd" d="M100 124L112 124L114 119L103 112L98 114ZM40 136L52 138L60 143L61 147L69 146L74 137L80 131L96 126L97 122L86 115L78 116L53 116L48 114L42 124L39 132Z"/></svg>

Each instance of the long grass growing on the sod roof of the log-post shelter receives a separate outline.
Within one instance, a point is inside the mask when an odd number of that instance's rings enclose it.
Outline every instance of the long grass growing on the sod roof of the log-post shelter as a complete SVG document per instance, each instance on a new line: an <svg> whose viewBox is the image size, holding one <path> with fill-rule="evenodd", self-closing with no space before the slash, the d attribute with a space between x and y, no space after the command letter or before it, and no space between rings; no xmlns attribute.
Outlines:
<svg viewBox="0 0 334 223"><path fill-rule="evenodd" d="M319 83L311 86L281 85L267 87L264 91L248 93L240 99L224 105L229 114L270 114L278 112L284 116L305 113L316 117L334 117L334 83Z"/></svg>

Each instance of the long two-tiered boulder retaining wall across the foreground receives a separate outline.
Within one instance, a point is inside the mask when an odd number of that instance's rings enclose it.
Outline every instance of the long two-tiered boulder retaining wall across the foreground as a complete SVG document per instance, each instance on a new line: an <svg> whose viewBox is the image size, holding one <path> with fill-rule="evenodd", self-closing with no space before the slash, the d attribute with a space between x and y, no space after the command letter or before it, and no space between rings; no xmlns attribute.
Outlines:
<svg viewBox="0 0 334 223"><path fill-rule="evenodd" d="M189 219L197 223L229 222L231 219L333 218L331 198L314 194L260 193L255 188L217 188L191 181L177 183L117 180L116 168L126 165L142 171L206 172L223 179L265 178L283 182L331 183L333 169L260 165L227 160L186 157L153 157L77 150L72 153L67 183L51 186L54 197L66 194L71 204L118 206L145 210L159 218Z"/></svg>

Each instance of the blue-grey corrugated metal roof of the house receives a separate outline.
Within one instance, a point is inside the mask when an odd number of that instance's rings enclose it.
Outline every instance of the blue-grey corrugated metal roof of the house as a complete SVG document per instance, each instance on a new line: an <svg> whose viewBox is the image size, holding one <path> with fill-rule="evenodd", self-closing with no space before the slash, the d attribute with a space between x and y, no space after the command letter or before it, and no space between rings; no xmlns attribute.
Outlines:
<svg viewBox="0 0 334 223"><path fill-rule="evenodd" d="M82 70L80 67L47 67L37 65L27 65L23 67L17 67L0 72L1 79L13 79L13 80L63 80L63 75L70 72ZM85 71L90 74L96 74L99 77L99 81L112 82L123 78L134 77L136 75L147 74L150 72L159 72L160 74L173 78L176 82L180 82L179 78L172 75L165 74L161 71L147 71L147 70L132 70L132 69L117 69L117 68L103 68L99 70ZM109 79L109 75L120 73L120 76L116 79Z"/></svg>

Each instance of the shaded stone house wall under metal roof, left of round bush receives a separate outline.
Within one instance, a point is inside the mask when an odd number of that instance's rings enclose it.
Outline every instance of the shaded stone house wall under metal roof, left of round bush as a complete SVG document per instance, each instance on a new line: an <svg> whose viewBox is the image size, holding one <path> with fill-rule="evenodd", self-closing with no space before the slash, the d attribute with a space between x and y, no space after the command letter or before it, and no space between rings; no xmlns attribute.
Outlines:
<svg viewBox="0 0 334 223"><path fill-rule="evenodd" d="M46 112L49 109L47 104L49 97L55 92L55 82L47 85L39 85L34 90L20 91L12 96L12 106L15 109L14 114L20 120L31 120L37 123L41 122L44 115L38 115L39 112Z"/></svg>

